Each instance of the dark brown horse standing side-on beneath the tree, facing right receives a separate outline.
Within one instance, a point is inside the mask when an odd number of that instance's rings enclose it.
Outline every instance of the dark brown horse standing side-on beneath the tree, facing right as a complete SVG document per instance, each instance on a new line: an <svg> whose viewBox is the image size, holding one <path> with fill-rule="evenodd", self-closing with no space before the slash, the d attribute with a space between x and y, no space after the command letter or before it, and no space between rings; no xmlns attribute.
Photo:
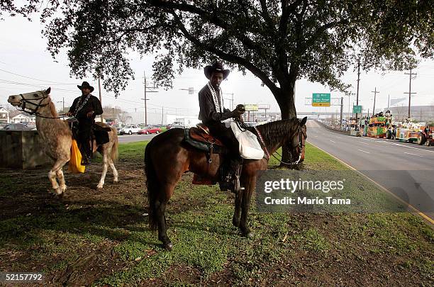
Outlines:
<svg viewBox="0 0 434 287"><path fill-rule="evenodd" d="M304 142L306 140L306 120L291 118L279 120L256 128L262 135L266 150L274 153L279 147L289 150L290 164L303 162ZM249 128L256 133L254 128ZM204 152L196 150L183 141L184 130L174 128L154 137L145 149L145 174L148 187L149 223L151 230L158 227L158 239L166 249L173 245L167 237L165 209L174 187L185 171L218 181L218 167L222 162L220 154L213 154L212 164L208 167L208 159ZM252 237L247 227L247 213L250 198L255 189L256 171L266 170L268 159L244 159L240 176L240 185L244 188L235 195L235 212L233 225L240 227L245 237ZM240 216L241 210L241 216Z"/></svg>

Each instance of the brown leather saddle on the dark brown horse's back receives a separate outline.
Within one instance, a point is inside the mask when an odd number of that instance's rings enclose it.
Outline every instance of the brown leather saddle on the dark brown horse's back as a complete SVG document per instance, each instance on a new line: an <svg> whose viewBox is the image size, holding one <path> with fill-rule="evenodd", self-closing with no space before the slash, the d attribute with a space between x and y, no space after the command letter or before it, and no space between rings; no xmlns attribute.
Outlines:
<svg viewBox="0 0 434 287"><path fill-rule="evenodd" d="M196 149L216 154L226 153L226 147L213 135L210 135L208 127L199 123L194 128L184 129L184 142Z"/></svg>

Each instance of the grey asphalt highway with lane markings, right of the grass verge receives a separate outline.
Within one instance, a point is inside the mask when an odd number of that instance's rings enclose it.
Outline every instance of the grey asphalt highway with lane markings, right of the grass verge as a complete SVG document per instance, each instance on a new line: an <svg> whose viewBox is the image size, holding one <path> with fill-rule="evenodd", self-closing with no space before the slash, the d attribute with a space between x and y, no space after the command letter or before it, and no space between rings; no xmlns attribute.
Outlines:
<svg viewBox="0 0 434 287"><path fill-rule="evenodd" d="M362 172L434 220L434 147L352 137L307 123L307 141Z"/></svg>

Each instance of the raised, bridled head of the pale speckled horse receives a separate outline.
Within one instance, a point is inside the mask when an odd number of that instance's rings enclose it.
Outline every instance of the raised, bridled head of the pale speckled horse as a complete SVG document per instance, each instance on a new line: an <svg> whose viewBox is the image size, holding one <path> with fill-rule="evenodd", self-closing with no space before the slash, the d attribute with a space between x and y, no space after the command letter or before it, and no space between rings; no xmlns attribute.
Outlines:
<svg viewBox="0 0 434 287"><path fill-rule="evenodd" d="M33 91L27 94L12 95L8 98L8 103L12 106L18 106L23 111L30 110L33 113L38 111L38 108L42 106L47 106L50 103L50 91L51 88L45 91Z"/></svg>

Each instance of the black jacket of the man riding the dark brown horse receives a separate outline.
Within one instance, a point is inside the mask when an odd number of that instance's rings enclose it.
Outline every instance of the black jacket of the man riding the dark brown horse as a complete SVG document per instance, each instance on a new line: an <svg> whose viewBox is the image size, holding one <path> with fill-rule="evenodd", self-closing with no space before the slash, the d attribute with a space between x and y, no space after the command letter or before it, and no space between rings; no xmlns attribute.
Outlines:
<svg viewBox="0 0 434 287"><path fill-rule="evenodd" d="M213 95L207 85L199 91L199 108L199 120L204 124L221 123L222 120L232 117L232 112L228 108L223 108L223 113L216 111Z"/></svg>

